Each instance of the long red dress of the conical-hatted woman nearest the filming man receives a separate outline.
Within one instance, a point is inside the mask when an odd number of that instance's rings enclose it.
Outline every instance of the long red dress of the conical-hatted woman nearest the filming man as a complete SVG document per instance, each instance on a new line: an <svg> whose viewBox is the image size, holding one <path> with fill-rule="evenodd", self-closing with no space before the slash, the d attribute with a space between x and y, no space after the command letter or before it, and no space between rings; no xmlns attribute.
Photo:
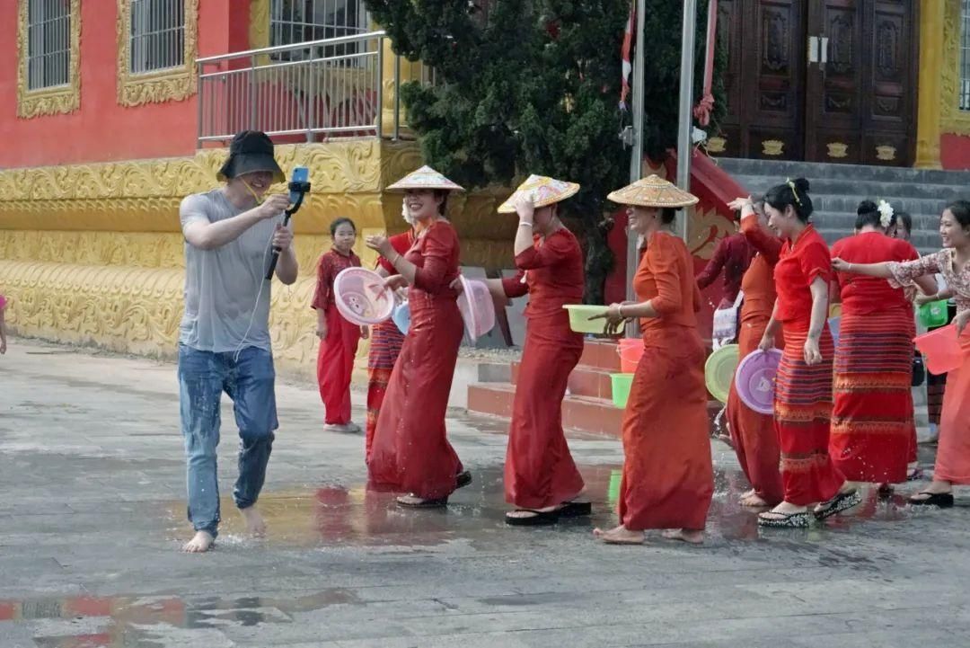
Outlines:
<svg viewBox="0 0 970 648"><path fill-rule="evenodd" d="M454 228L436 221L404 255L417 266L407 293L411 326L377 415L368 465L375 485L427 500L450 495L462 470L444 425L463 331L450 287L459 252Z"/></svg>

